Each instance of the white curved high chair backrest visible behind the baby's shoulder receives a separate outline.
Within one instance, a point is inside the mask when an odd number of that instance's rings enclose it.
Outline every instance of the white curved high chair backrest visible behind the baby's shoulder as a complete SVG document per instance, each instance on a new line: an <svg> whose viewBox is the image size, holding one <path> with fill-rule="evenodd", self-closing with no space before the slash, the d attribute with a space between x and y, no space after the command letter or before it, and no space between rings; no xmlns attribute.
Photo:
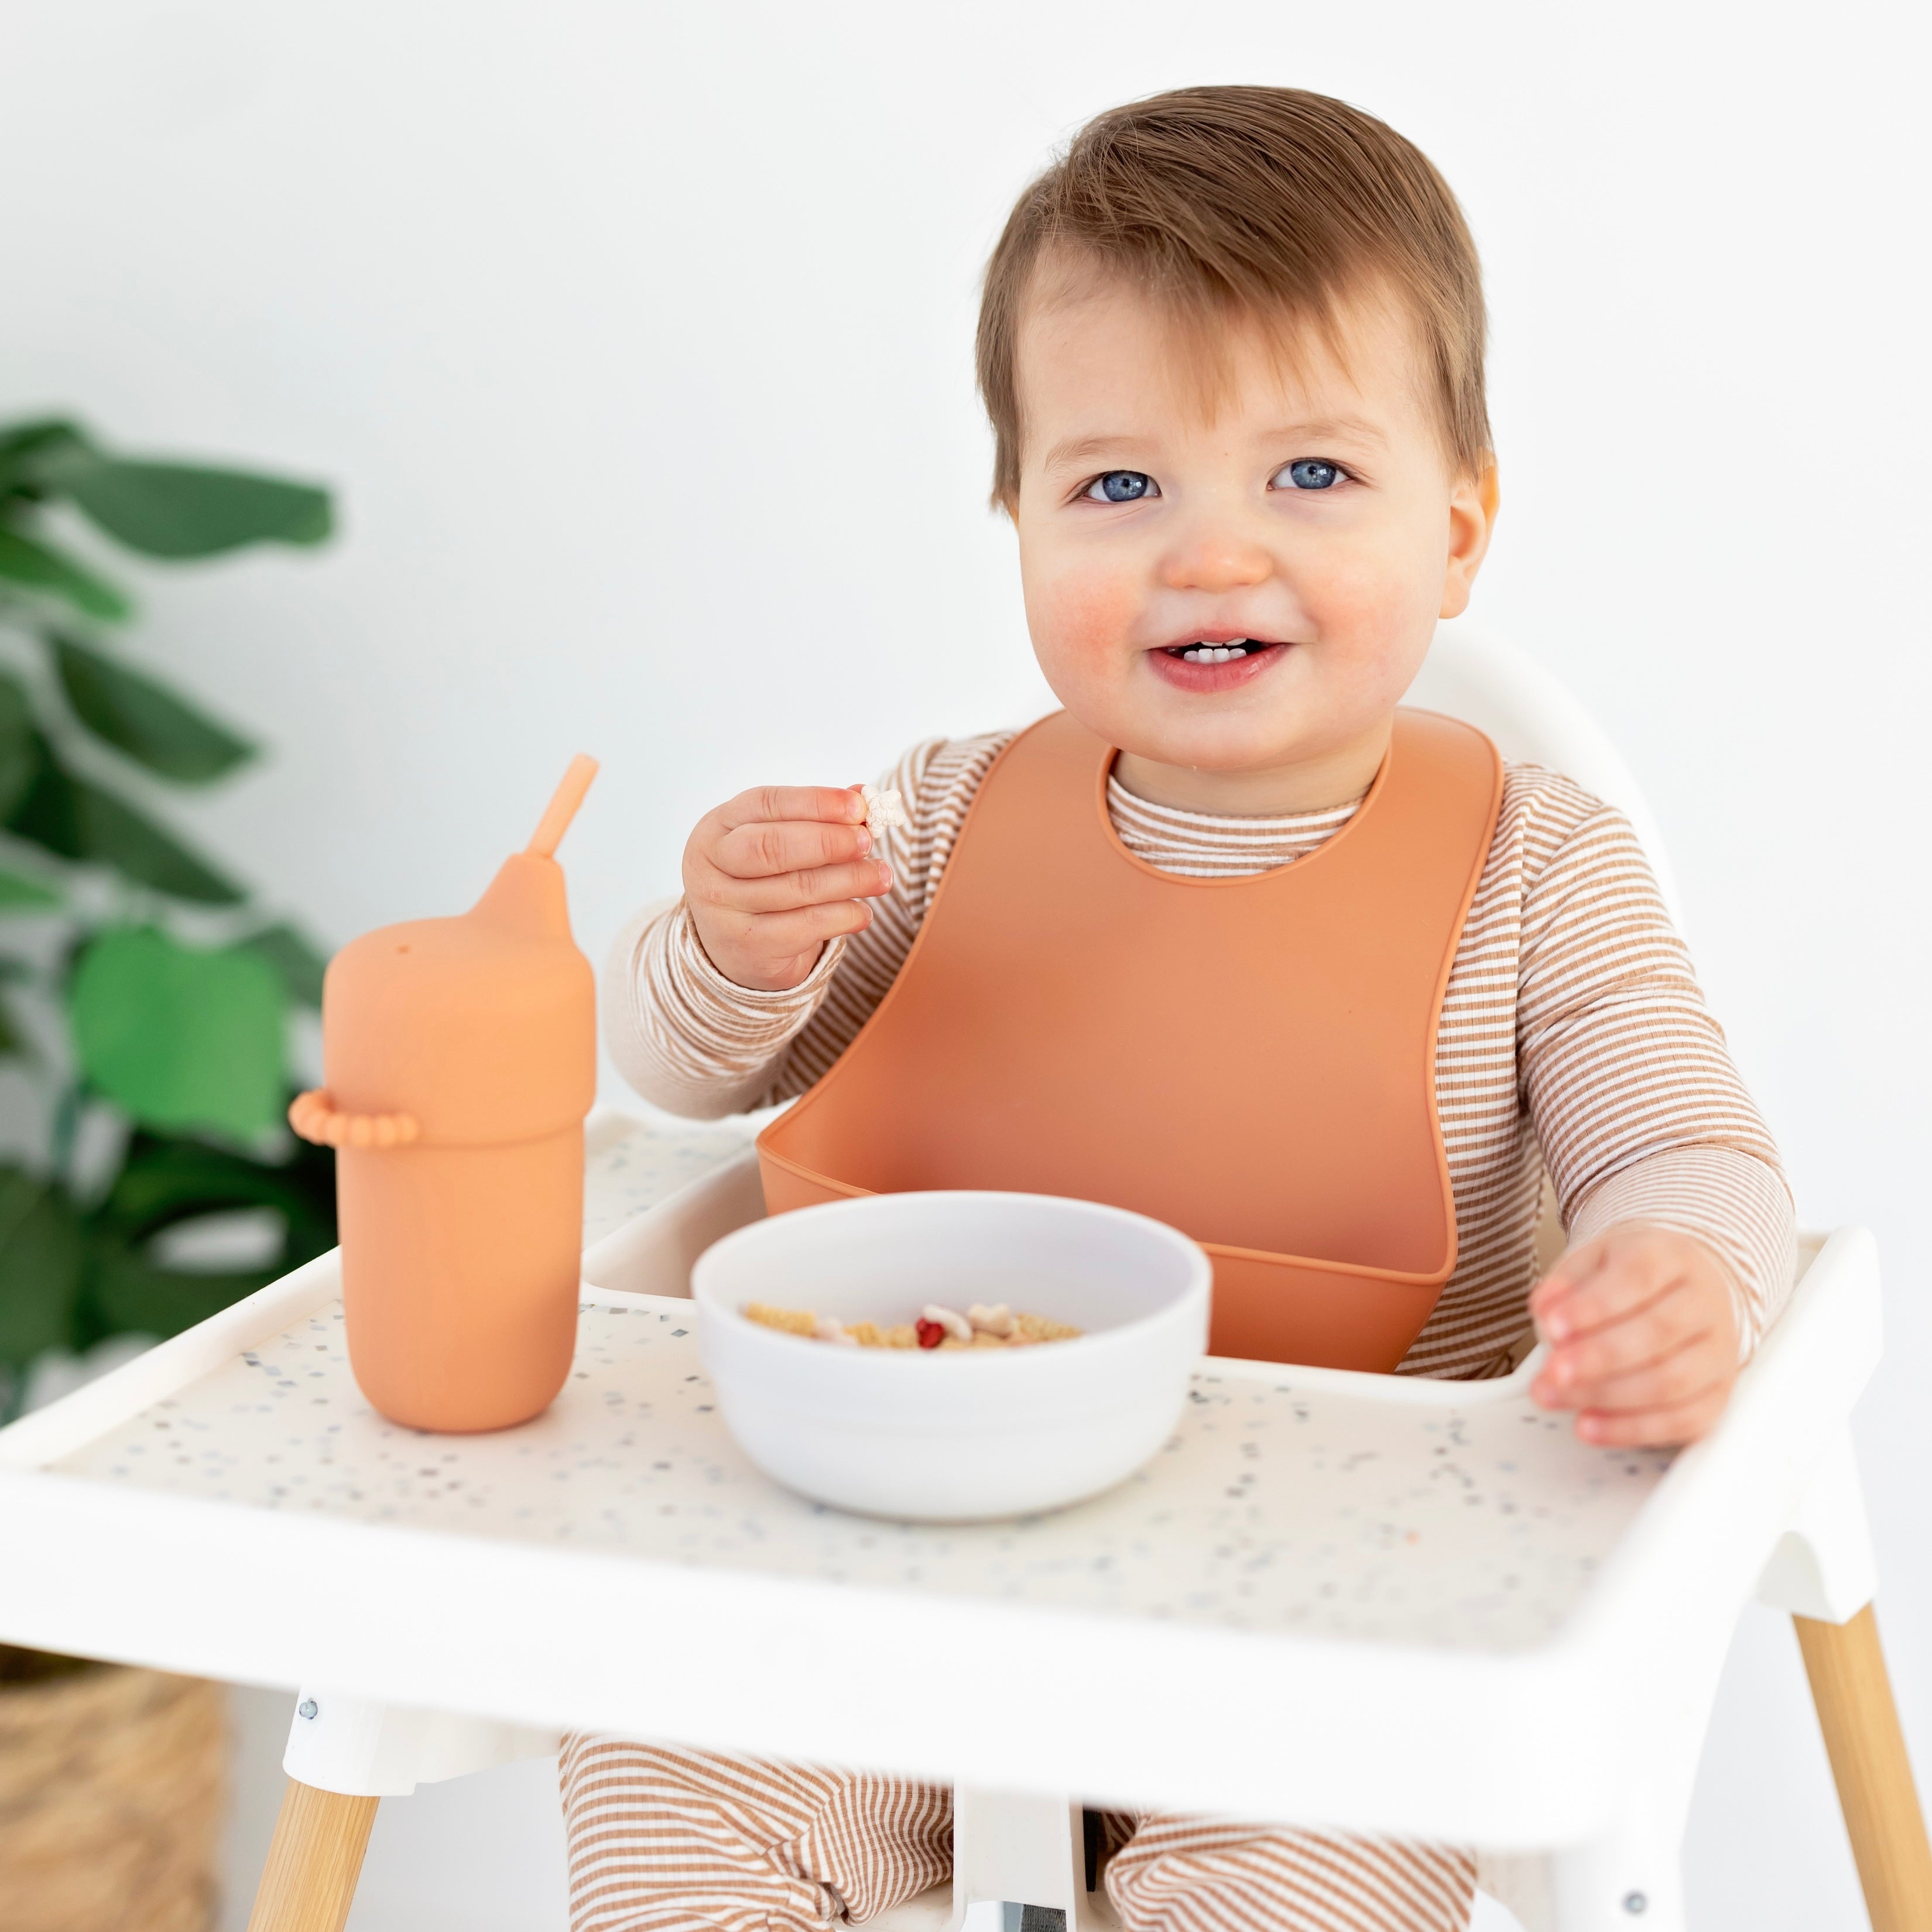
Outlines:
<svg viewBox="0 0 1932 1932"><path fill-rule="evenodd" d="M1466 719L1495 740L1503 757L1561 771L1615 806L1636 829L1671 922L1683 929L1671 858L1642 788L1604 728L1549 670L1457 618L1435 626L1406 701Z"/></svg>

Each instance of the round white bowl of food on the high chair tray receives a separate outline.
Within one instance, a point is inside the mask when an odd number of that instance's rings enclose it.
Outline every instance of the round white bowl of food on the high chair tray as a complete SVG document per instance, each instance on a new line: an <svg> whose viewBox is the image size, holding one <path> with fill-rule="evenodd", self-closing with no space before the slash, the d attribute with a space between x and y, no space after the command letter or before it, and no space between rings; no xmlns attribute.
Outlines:
<svg viewBox="0 0 1932 1932"><path fill-rule="evenodd" d="M692 1269L697 1341L738 1447L802 1495L964 1522L1059 1509L1173 1432L1208 1347L1211 1265L1146 1215L1055 1194L875 1194L753 1221ZM840 1349L746 1302L912 1321L1007 1302L1070 1321L1032 1349Z"/></svg>

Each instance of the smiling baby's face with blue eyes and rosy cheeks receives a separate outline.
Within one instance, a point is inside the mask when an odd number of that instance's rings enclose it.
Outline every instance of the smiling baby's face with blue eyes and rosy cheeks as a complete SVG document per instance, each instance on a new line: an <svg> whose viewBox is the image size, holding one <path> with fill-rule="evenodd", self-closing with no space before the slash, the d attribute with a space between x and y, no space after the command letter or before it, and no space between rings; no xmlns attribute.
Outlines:
<svg viewBox="0 0 1932 1932"><path fill-rule="evenodd" d="M1206 408L1161 311L1095 282L1020 330L1014 524L1061 703L1144 796L1339 804L1374 777L1437 616L1482 562L1493 471L1457 477L1406 319L1347 313L1294 367L1256 328Z"/></svg>

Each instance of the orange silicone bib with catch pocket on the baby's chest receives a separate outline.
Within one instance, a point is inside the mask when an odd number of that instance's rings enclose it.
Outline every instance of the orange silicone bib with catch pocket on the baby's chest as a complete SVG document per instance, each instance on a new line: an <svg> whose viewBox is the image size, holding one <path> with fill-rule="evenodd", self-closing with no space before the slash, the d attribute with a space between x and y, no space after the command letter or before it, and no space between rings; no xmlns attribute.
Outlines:
<svg viewBox="0 0 1932 1932"><path fill-rule="evenodd" d="M1113 757L1065 713L1007 748L879 1010L759 1136L765 1202L1134 1208L1213 1256L1217 1354L1393 1370L1455 1267L1435 1028L1495 746L1399 713L1349 825L1244 879L1134 858Z"/></svg>

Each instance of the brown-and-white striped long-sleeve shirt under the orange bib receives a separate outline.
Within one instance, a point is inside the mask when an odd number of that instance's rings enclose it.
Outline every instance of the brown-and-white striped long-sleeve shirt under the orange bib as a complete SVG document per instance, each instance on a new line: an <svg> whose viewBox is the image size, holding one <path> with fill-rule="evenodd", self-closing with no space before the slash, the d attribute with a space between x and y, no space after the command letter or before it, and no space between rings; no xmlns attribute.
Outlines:
<svg viewBox="0 0 1932 1932"><path fill-rule="evenodd" d="M624 1076L657 1105L707 1119L804 1094L904 964L966 808L1010 738L927 740L881 781L900 790L910 821L881 844L893 889L873 900L866 931L827 945L788 991L726 980L682 902L634 920L603 997ZM1151 866L1194 875L1293 864L1356 804L1209 817L1109 784L1121 840ZM1793 1273L1777 1150L1629 821L1534 765L1505 773L1443 999L1435 1097L1457 1267L1405 1374L1493 1376L1520 1354L1546 1171L1573 1242L1629 1221L1700 1236L1729 1269L1745 1349L1764 1333Z"/></svg>

